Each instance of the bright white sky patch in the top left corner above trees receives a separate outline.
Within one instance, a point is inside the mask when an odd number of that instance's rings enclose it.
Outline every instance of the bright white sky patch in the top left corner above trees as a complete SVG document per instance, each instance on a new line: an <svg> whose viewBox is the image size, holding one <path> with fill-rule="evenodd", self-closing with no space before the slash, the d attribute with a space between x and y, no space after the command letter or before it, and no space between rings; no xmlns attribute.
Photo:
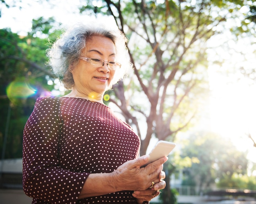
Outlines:
<svg viewBox="0 0 256 204"><path fill-rule="evenodd" d="M61 0L51 0L51 4L46 1L39 3L38 0L26 0L18 2L17 0L6 0L10 8L7 9L3 4L0 4L1 15L0 28L11 27L12 32L18 33L21 36L26 35L32 27L32 19L43 16L45 19L54 16L57 22L62 22L63 25L68 25L72 21L76 21L79 16L77 4L79 0L72 0L72 3L63 3ZM71 1L65 1L71 2ZM54 6L52 6L52 4ZM16 5L15 7L12 7ZM20 9L19 7L22 7ZM72 16L72 18L70 18Z"/></svg>

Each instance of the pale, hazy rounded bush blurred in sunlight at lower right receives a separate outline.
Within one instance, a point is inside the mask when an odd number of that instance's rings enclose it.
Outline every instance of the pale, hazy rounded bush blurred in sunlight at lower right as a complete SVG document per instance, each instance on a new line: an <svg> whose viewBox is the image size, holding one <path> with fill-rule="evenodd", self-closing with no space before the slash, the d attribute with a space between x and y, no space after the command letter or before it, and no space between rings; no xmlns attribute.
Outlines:
<svg viewBox="0 0 256 204"><path fill-rule="evenodd" d="M210 132L191 135L183 141L181 157L196 157L199 162L186 168L184 180L192 179L200 191L214 184L216 179L247 174L246 152L240 152L232 141ZM235 186L234 186L235 187Z"/></svg>

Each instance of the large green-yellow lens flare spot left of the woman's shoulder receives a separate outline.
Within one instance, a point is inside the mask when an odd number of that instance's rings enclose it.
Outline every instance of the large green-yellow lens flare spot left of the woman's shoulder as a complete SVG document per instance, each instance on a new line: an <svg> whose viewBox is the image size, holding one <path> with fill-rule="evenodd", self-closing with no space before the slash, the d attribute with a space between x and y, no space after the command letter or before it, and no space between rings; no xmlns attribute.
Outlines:
<svg viewBox="0 0 256 204"><path fill-rule="evenodd" d="M12 81L6 90L7 97L11 99L26 99L36 93L36 90L24 81Z"/></svg>

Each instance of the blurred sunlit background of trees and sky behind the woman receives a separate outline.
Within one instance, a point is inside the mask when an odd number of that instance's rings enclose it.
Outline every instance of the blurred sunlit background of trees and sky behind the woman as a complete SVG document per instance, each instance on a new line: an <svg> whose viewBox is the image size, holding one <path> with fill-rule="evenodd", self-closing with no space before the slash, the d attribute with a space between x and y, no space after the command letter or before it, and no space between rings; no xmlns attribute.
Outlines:
<svg viewBox="0 0 256 204"><path fill-rule="evenodd" d="M254 0L1 0L0 200L31 200L23 128L37 97L68 93L45 50L89 16L126 34L134 65L104 103L137 132L141 155L160 139L177 144L153 202L255 204Z"/></svg>

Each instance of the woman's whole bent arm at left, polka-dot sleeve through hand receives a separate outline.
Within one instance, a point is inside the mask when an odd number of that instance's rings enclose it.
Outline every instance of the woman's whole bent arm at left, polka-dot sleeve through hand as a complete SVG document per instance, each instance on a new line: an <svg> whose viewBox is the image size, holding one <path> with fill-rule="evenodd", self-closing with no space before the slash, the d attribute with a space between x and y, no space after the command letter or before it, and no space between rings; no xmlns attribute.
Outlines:
<svg viewBox="0 0 256 204"><path fill-rule="evenodd" d="M144 191L158 175L167 158L140 168L148 157L127 161L112 173L78 173L60 167L61 121L59 101L40 98L29 117L23 135L23 188L34 198L51 203L76 203L77 199L117 191Z"/></svg>

